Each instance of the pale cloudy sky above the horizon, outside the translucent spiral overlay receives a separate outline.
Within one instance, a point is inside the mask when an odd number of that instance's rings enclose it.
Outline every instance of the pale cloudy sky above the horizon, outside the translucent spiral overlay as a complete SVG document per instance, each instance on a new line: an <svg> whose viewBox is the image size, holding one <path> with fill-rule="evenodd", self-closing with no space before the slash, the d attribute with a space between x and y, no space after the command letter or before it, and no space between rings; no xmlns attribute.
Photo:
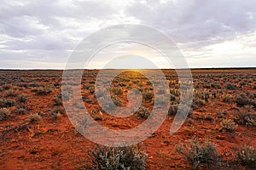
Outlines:
<svg viewBox="0 0 256 170"><path fill-rule="evenodd" d="M162 31L190 67L256 66L255 0L0 0L0 68L61 69L85 37L118 24Z"/></svg>

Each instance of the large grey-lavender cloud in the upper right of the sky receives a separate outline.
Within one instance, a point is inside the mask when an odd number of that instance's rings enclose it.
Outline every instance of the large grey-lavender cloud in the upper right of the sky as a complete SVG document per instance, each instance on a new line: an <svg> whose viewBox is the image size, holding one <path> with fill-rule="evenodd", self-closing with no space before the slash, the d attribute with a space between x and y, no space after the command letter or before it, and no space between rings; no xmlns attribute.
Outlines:
<svg viewBox="0 0 256 170"><path fill-rule="evenodd" d="M253 0L181 0L154 3L149 7L133 3L125 13L167 32L176 42L232 38L237 32L256 29L256 2Z"/></svg>

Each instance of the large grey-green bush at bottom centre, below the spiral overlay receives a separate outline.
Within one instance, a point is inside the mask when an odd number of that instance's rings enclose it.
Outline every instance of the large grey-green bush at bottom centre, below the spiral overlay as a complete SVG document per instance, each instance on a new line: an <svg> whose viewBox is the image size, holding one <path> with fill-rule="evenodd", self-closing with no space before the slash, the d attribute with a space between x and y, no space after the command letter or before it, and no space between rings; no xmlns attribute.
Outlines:
<svg viewBox="0 0 256 170"><path fill-rule="evenodd" d="M89 151L90 165L85 169L90 170L145 170L147 168L147 154L137 146L131 147L104 147L97 146Z"/></svg>

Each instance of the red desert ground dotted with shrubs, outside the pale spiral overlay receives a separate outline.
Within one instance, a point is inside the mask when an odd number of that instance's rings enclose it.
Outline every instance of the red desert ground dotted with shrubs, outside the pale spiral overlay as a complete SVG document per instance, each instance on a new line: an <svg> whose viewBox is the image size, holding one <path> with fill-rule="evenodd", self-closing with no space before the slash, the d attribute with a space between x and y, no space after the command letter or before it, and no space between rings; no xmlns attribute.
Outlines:
<svg viewBox="0 0 256 170"><path fill-rule="evenodd" d="M143 94L143 110L118 118L108 115L97 104L97 72L86 70L82 84L69 84L70 90L82 89L84 105L96 122L119 130L143 123L154 105L154 89L147 77L125 71L111 82L116 105L127 103L126 95L131 88ZM174 134L170 134L170 127L180 87L174 70L163 72L171 92L170 110L160 128L139 144L139 150L147 155L144 168L255 168L256 70L192 70L193 104L183 126ZM62 71L53 70L0 71L0 169L93 169L89 152L102 146L84 138L69 121L62 105L61 76ZM72 98L65 96L67 101ZM76 103L73 106L79 107ZM191 156L184 156L186 151L191 154L189 144L206 141L216 149L218 159L191 161Z"/></svg>

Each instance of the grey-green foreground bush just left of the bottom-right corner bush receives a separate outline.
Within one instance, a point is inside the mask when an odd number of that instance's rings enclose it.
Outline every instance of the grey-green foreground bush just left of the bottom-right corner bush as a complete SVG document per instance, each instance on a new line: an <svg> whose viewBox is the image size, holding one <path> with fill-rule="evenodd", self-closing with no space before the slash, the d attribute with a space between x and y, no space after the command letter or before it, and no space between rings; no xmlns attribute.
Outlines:
<svg viewBox="0 0 256 170"><path fill-rule="evenodd" d="M195 168L215 167L220 161L216 145L208 141L201 144L197 139L191 139L189 144L179 143L175 149Z"/></svg>

